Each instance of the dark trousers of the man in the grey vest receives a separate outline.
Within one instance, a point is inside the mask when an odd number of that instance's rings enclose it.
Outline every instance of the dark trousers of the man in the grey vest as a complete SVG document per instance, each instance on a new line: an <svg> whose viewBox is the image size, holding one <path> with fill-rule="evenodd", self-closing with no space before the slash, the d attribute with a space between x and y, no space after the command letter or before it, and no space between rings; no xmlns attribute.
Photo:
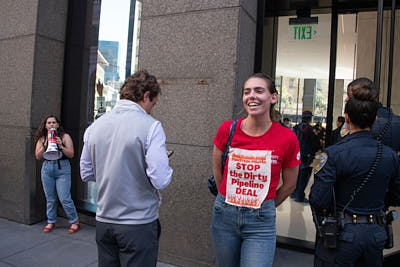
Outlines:
<svg viewBox="0 0 400 267"><path fill-rule="evenodd" d="M156 266L158 223L124 225L96 221L99 267Z"/></svg>

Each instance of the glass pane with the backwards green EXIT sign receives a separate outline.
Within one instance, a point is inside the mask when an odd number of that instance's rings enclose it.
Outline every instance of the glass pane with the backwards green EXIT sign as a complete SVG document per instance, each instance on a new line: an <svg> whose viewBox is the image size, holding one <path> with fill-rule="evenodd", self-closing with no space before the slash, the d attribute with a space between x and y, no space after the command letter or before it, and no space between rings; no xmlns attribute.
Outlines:
<svg viewBox="0 0 400 267"><path fill-rule="evenodd" d="M280 94L277 109L291 126L301 122L305 110L313 113L313 123L326 124L331 15L313 14L317 24L293 24L279 17L275 77ZM308 196L312 177L305 189ZM314 242L315 227L306 202L288 198L277 208L277 235Z"/></svg>

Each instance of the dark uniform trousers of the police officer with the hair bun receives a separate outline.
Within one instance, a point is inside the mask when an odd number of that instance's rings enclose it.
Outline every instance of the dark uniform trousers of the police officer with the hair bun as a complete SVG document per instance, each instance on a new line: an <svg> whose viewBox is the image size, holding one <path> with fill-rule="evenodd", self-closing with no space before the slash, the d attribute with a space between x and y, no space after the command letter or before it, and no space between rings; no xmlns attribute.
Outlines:
<svg viewBox="0 0 400 267"><path fill-rule="evenodd" d="M339 235L336 249L326 249L323 241L318 240L314 266L382 266L386 238L385 228L378 224L346 224Z"/></svg>

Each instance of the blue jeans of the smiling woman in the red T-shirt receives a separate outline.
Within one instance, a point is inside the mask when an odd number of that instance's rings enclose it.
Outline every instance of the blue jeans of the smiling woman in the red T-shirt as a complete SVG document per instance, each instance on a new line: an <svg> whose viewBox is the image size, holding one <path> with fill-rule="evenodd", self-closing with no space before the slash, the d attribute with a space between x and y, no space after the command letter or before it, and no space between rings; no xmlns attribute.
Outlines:
<svg viewBox="0 0 400 267"><path fill-rule="evenodd" d="M236 207L218 194L214 203L211 235L217 266L272 266L276 246L275 201L260 209Z"/></svg>

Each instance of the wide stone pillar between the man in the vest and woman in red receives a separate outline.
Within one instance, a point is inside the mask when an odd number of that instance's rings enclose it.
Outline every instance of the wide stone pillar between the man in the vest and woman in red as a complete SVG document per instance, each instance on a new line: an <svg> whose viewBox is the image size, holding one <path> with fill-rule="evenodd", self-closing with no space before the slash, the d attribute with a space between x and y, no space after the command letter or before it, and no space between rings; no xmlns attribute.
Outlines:
<svg viewBox="0 0 400 267"><path fill-rule="evenodd" d="M252 73L257 1L143 2L139 68L156 75L162 95L153 111L167 136L173 181L162 192L160 260L214 264L210 222L213 138L240 112Z"/></svg>

